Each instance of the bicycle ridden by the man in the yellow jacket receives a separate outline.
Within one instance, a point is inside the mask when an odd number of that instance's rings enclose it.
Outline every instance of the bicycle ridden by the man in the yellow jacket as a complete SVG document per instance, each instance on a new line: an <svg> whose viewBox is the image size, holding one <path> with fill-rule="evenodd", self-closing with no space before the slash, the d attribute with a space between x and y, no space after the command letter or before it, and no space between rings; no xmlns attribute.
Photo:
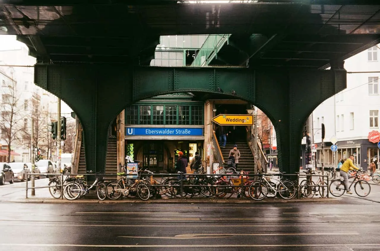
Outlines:
<svg viewBox="0 0 380 251"><path fill-rule="evenodd" d="M367 195L369 195L369 193L371 192L371 186L366 180L361 179L361 174L359 174L359 172L356 172L353 176L348 177L348 179L351 179L351 178L354 178L354 180L351 182L350 186L348 187L348 190L351 190L352 185L355 183L354 190L355 190L356 195L360 197L366 197ZM329 191L335 197L342 196L345 191L344 180L341 180L341 179L331 180Z"/></svg>

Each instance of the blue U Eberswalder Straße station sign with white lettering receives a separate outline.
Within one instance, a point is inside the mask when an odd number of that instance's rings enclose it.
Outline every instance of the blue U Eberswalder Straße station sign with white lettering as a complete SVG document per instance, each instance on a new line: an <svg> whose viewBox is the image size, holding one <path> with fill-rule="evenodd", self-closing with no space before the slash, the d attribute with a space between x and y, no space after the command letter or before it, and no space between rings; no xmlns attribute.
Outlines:
<svg viewBox="0 0 380 251"><path fill-rule="evenodd" d="M127 136L203 136L203 128L126 127Z"/></svg>

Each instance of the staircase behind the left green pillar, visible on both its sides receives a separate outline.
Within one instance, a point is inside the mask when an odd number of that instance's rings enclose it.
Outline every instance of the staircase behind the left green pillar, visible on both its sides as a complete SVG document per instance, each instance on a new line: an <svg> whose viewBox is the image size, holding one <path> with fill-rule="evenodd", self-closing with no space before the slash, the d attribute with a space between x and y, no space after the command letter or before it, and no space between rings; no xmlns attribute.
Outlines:
<svg viewBox="0 0 380 251"><path fill-rule="evenodd" d="M115 176L105 176L106 181L116 180L117 173L117 141L116 138L108 138L105 174L115 174ZM79 155L78 174L86 174L86 157L84 155L83 141Z"/></svg>

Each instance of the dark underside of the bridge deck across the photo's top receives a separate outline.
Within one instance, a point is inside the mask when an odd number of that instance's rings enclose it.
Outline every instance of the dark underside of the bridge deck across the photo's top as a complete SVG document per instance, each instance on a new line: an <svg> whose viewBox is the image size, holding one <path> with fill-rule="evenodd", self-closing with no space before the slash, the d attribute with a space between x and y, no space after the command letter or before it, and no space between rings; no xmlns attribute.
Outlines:
<svg viewBox="0 0 380 251"><path fill-rule="evenodd" d="M160 35L232 34L219 57L236 55L227 65L311 69L380 42L380 5L370 1L254 2L5 0L0 34L18 35L39 62L141 66Z"/></svg>

